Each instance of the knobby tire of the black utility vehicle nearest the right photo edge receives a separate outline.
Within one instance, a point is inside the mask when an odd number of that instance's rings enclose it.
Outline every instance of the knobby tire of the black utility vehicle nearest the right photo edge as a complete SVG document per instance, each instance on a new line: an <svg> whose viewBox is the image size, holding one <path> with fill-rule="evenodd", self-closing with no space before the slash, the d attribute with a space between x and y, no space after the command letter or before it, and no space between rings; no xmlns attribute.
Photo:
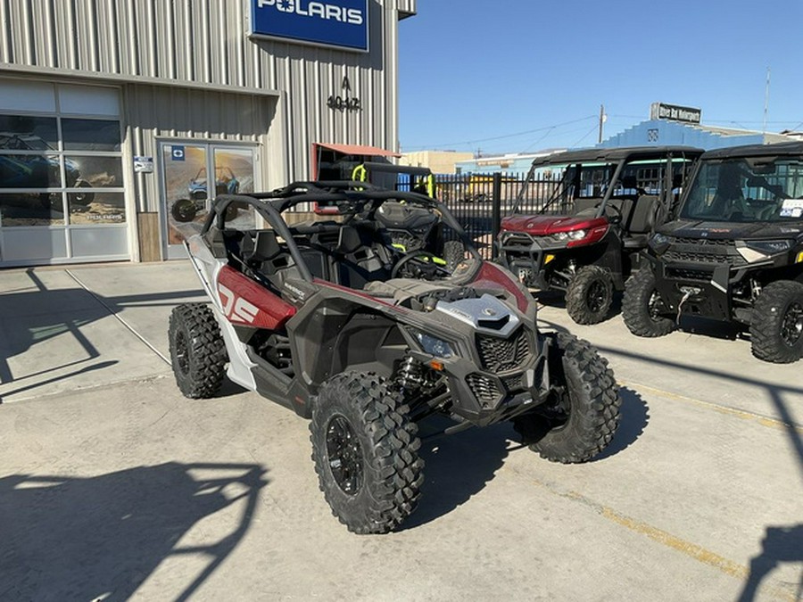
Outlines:
<svg viewBox="0 0 803 602"><path fill-rule="evenodd" d="M803 358L803 284L779 280L766 285L750 317L753 355L776 364Z"/></svg>

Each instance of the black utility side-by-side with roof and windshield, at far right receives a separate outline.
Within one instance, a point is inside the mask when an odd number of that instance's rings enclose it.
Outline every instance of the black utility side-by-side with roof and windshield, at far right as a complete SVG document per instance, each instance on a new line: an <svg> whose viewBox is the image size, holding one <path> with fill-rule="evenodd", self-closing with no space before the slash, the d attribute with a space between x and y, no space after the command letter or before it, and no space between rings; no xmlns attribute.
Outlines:
<svg viewBox="0 0 803 602"><path fill-rule="evenodd" d="M668 334L690 314L749 326L758 359L803 357L803 143L703 154L645 258L623 301L633 334Z"/></svg>

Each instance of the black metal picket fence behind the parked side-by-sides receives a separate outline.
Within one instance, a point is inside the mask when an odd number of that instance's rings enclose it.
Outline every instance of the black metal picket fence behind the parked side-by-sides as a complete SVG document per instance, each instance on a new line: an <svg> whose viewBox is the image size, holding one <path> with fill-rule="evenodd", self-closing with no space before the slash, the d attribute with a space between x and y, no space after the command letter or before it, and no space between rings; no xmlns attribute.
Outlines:
<svg viewBox="0 0 803 602"><path fill-rule="evenodd" d="M493 259L501 219L513 212L525 181L525 175L514 177L500 173L439 175L435 177L435 196L451 210L483 257ZM531 181L522 195L518 211L534 213L541 210L557 184L553 179Z"/></svg>

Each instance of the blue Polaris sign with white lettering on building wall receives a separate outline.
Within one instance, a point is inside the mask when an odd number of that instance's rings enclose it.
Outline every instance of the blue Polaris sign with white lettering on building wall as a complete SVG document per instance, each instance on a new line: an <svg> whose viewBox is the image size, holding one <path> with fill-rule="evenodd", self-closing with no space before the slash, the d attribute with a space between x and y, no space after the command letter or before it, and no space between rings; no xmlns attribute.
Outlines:
<svg viewBox="0 0 803 602"><path fill-rule="evenodd" d="M368 51L368 0L251 0L251 33Z"/></svg>

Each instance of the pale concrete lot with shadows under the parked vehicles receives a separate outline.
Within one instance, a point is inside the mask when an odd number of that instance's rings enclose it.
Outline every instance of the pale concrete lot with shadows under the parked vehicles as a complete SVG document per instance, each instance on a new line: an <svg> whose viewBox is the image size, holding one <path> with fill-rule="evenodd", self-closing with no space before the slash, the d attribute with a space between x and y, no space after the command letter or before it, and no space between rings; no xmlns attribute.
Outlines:
<svg viewBox="0 0 803 602"><path fill-rule="evenodd" d="M608 450L554 465L508 425L426 441L417 513L355 536L302 419L178 392L167 317L199 289L185 262L0 271L0 599L803 596L800 363L547 305L616 372Z"/></svg>

